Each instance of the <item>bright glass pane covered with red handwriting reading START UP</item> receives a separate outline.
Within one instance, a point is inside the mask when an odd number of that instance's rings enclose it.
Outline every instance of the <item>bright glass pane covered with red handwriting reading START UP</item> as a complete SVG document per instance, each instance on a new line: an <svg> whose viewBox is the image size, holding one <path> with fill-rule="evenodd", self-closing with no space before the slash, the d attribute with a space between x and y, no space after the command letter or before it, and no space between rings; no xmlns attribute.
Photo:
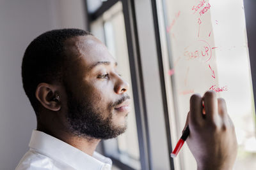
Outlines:
<svg viewBox="0 0 256 170"><path fill-rule="evenodd" d="M173 145L184 127L191 94L214 90L226 100L236 127L234 169L255 169L255 107L243 0L163 0L157 8L163 60L169 63L164 64L166 87L172 88L167 96ZM188 147L182 148L175 166L196 169Z"/></svg>

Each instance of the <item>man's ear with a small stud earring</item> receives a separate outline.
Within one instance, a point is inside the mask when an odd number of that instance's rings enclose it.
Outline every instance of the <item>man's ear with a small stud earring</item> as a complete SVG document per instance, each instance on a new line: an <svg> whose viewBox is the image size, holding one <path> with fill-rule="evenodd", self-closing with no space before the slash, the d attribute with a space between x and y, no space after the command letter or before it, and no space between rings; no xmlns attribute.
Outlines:
<svg viewBox="0 0 256 170"><path fill-rule="evenodd" d="M36 87L36 99L48 110L59 111L61 108L60 94L57 85L40 83Z"/></svg>

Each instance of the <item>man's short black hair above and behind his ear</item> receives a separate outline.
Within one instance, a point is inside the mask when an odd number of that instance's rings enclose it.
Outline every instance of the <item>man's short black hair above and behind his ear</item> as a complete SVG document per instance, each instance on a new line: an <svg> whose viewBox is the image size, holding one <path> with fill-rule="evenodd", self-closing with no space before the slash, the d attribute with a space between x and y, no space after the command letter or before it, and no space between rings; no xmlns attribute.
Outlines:
<svg viewBox="0 0 256 170"><path fill-rule="evenodd" d="M39 101L35 97L37 85L63 83L63 67L67 60L64 42L68 38L88 35L92 34L81 29L55 29L41 34L26 48L21 66L22 83L36 115L39 111Z"/></svg>

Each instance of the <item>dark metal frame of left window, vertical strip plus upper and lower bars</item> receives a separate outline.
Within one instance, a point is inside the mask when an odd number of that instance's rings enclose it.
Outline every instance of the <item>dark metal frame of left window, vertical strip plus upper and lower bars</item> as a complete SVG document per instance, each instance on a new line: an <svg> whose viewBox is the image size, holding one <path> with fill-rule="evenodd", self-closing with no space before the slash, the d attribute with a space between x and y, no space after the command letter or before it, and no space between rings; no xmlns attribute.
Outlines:
<svg viewBox="0 0 256 170"><path fill-rule="evenodd" d="M136 29L136 15L134 10L133 0L120 0L122 1L125 32L127 37L127 49L129 53L129 62L131 69L131 80L134 97L134 109L136 113L136 125L138 131L138 143L140 148L140 164L141 169L152 169L150 159L150 139L148 134L148 122L147 122L147 107L145 101L143 74L141 70L140 50L138 45L138 33ZM102 6L92 14L88 15L88 21L92 22L101 17L102 14L115 5L118 0L109 0L102 3ZM85 1L86 5L86 1ZM88 24L90 25L90 24ZM90 30L90 27L89 27ZM104 145L102 145L104 155L107 155L115 166L121 169L134 169L131 165L127 165L122 162L118 156L119 152L115 155L108 155L104 151Z"/></svg>

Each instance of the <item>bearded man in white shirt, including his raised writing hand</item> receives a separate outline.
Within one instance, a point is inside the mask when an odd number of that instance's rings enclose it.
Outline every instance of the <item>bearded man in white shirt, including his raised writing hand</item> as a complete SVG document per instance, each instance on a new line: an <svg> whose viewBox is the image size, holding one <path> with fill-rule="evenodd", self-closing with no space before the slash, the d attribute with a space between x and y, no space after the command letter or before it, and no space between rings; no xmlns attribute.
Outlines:
<svg viewBox="0 0 256 170"><path fill-rule="evenodd" d="M17 170L111 169L95 148L126 129L129 84L116 67L106 46L79 29L45 32L30 43L22 81L37 127ZM187 124L198 169L232 169L237 144L225 101L213 92L192 96Z"/></svg>

